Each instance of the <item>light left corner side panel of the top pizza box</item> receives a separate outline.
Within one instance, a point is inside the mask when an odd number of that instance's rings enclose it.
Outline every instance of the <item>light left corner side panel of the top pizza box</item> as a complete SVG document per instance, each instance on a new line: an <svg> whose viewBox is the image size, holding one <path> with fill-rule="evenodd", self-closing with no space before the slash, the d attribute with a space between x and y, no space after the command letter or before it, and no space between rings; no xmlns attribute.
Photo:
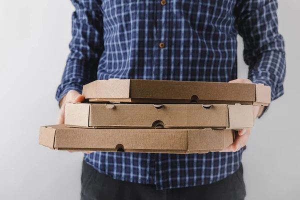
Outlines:
<svg viewBox="0 0 300 200"><path fill-rule="evenodd" d="M130 79L95 80L83 86L85 98L129 98Z"/></svg>

